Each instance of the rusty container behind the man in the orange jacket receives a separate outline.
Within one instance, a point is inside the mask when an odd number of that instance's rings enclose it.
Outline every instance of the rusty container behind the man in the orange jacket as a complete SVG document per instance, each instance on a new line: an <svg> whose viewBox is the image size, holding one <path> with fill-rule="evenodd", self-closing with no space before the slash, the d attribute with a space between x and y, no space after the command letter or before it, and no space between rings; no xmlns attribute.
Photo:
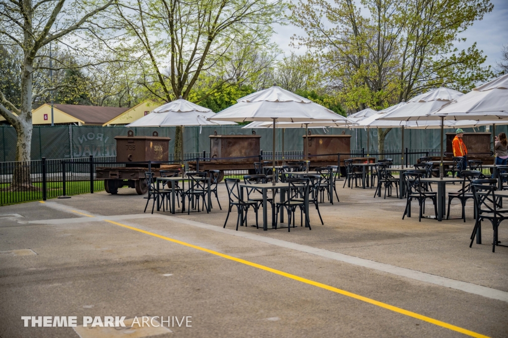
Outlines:
<svg viewBox="0 0 508 338"><path fill-rule="evenodd" d="M446 157L449 159L453 157L452 141L455 136L455 132L446 133ZM479 159L484 161L484 164L492 162L490 155L491 139L492 134L490 132L464 132L462 140L467 148L467 159Z"/></svg>

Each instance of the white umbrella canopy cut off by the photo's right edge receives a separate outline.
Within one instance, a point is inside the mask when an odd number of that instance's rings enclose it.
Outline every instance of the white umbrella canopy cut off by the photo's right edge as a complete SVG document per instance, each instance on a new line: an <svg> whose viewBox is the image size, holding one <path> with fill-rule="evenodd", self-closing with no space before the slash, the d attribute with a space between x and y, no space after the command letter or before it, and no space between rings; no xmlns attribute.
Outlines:
<svg viewBox="0 0 508 338"><path fill-rule="evenodd" d="M445 120L508 120L508 74L474 88L428 114Z"/></svg>

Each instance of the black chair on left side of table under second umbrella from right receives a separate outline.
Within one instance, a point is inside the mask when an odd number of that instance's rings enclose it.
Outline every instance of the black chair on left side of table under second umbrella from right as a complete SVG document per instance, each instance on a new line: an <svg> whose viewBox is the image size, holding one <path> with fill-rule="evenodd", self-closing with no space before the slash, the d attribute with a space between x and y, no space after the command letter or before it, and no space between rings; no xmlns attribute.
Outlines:
<svg viewBox="0 0 508 338"><path fill-rule="evenodd" d="M420 214L418 217L418 221L422 221L423 213L425 213L425 200L430 198L434 204L434 212L437 218L437 193L425 191L425 185L422 184L420 179L424 177L425 173L418 171L406 171L404 173L404 179L406 182L406 208L404 210L404 214L402 215L402 219L407 214L407 217L411 217L411 201L413 199L418 200L418 204L420 206Z"/></svg>

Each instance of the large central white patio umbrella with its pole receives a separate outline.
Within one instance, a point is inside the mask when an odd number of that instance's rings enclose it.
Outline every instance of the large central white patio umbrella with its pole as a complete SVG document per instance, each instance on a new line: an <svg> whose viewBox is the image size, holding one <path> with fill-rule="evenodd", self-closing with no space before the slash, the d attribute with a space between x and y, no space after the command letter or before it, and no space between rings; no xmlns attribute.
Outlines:
<svg viewBox="0 0 508 338"><path fill-rule="evenodd" d="M273 173L275 184L275 126L278 122L344 121L345 117L278 86L252 93L237 100L214 117L214 121L265 121L273 123Z"/></svg>

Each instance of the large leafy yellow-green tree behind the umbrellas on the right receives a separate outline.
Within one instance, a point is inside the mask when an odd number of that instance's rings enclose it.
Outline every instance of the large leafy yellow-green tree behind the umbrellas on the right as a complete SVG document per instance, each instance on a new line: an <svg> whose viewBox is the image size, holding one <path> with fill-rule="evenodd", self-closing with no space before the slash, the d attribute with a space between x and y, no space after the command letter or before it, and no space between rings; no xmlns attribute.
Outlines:
<svg viewBox="0 0 508 338"><path fill-rule="evenodd" d="M454 48L457 36L493 6L489 0L300 0L292 20L306 36L296 46L315 49L338 91L354 112L383 109L447 84L468 90L492 76L486 57L473 43ZM324 20L326 18L326 20ZM380 130L378 147L390 129Z"/></svg>

